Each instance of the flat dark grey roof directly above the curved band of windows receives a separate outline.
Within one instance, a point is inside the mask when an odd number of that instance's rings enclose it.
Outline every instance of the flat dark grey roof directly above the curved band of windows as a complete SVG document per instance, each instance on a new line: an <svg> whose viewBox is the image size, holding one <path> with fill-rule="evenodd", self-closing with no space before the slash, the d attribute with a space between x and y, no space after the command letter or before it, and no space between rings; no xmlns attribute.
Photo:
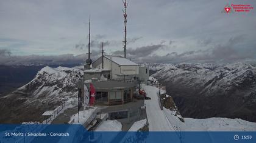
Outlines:
<svg viewBox="0 0 256 143"><path fill-rule="evenodd" d="M135 87L135 84L128 82L119 82L119 81L98 81L93 82L93 86L99 90L116 90L123 88Z"/></svg>

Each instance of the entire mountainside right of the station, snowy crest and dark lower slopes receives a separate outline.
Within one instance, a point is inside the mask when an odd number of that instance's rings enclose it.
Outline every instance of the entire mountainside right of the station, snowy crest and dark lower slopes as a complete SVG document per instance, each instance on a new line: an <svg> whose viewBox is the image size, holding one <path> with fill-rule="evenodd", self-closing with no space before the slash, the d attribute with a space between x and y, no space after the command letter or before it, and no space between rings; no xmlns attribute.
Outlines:
<svg viewBox="0 0 256 143"><path fill-rule="evenodd" d="M154 64L183 117L256 122L256 67L251 64Z"/></svg>

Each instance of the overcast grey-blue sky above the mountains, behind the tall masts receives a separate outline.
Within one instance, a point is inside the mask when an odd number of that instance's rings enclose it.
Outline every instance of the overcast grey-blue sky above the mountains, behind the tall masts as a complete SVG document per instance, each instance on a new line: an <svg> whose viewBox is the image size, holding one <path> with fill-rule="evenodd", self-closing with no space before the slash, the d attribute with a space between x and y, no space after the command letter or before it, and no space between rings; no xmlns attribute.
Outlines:
<svg viewBox="0 0 256 143"><path fill-rule="evenodd" d="M127 0L127 57L136 62L240 62L256 59L256 11L222 13L256 1ZM123 55L121 0L0 0L0 64ZM32 55L32 56L31 56ZM36 56L35 56L36 55ZM39 58L38 58L39 57ZM22 59L22 60L21 60ZM55 60L55 59L54 59Z"/></svg>

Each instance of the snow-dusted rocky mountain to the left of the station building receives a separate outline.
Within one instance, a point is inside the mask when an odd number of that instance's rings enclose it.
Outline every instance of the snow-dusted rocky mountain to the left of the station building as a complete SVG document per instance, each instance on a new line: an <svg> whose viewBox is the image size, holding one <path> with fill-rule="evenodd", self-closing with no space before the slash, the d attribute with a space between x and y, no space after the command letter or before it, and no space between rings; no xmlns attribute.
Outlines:
<svg viewBox="0 0 256 143"><path fill-rule="evenodd" d="M42 68L28 84L0 98L0 122L43 121L44 111L77 96L76 84L82 75L79 67Z"/></svg>

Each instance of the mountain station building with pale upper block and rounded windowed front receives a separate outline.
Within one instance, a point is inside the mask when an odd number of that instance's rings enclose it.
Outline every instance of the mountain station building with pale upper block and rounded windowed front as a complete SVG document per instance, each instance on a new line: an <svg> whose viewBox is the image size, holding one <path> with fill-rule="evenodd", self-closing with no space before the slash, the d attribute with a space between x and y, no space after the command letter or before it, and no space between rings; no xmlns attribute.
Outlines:
<svg viewBox="0 0 256 143"><path fill-rule="evenodd" d="M122 56L102 55L84 66L84 84L88 81L93 84L95 105L99 106L131 102L139 84L146 84L148 78L148 67L140 67Z"/></svg>

